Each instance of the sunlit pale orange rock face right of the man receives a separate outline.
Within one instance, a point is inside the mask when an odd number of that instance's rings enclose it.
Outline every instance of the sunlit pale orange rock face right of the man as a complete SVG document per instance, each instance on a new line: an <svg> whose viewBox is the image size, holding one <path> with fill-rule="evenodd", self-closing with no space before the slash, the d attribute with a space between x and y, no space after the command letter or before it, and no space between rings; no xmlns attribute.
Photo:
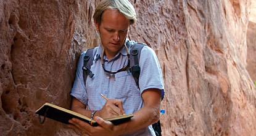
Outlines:
<svg viewBox="0 0 256 136"><path fill-rule="evenodd" d="M250 1L148 4L139 14L146 25L157 26L146 26L146 38L138 37L161 60L167 89L163 133L255 134L255 89L245 69Z"/></svg>

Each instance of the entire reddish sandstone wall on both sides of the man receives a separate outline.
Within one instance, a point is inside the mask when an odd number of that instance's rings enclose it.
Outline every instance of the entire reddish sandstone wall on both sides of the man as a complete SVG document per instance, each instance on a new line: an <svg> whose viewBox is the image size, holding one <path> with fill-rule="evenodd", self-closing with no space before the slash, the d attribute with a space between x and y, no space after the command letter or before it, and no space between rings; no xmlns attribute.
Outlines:
<svg viewBox="0 0 256 136"><path fill-rule="evenodd" d="M137 26L160 59L163 135L256 134L255 86L246 70L250 1L133 0ZM97 45L95 1L0 1L0 134L76 135L38 123L44 102L68 108L76 61ZM248 41L248 40L247 40Z"/></svg>

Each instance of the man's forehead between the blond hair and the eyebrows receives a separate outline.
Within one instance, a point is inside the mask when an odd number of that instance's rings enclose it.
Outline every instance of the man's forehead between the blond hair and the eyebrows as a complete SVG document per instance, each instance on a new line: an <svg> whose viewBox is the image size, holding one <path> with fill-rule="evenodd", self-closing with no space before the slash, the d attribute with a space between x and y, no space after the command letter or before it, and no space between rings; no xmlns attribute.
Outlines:
<svg viewBox="0 0 256 136"><path fill-rule="evenodd" d="M101 25L110 28L127 29L130 25L130 20L117 9L106 9L102 13Z"/></svg>

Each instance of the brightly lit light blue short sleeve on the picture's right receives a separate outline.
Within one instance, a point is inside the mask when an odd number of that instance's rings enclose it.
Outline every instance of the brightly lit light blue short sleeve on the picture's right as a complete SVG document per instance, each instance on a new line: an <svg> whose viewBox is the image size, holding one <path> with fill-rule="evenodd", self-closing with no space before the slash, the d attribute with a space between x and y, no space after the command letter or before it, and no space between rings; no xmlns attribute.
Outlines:
<svg viewBox="0 0 256 136"><path fill-rule="evenodd" d="M139 75L141 94L144 90L149 88L156 88L163 91L162 71L157 55L152 48L148 46L142 48L139 66L141 67L141 73Z"/></svg>

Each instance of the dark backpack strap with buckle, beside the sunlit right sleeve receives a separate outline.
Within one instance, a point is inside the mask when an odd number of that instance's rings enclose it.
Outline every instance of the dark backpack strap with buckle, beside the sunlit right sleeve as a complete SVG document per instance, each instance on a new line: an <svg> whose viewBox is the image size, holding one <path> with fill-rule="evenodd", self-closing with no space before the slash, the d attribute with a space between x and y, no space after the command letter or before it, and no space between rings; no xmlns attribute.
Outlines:
<svg viewBox="0 0 256 136"><path fill-rule="evenodd" d="M139 86L139 74L141 72L141 68L139 67L139 58L141 56L141 50L146 44L144 43L134 43L131 45L130 50L130 67L131 74L136 82L136 85Z"/></svg>

